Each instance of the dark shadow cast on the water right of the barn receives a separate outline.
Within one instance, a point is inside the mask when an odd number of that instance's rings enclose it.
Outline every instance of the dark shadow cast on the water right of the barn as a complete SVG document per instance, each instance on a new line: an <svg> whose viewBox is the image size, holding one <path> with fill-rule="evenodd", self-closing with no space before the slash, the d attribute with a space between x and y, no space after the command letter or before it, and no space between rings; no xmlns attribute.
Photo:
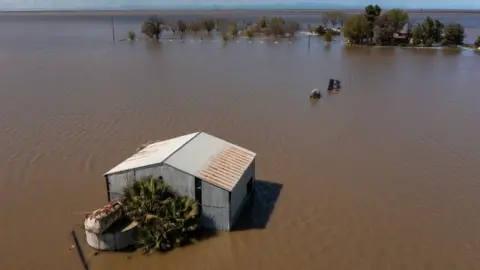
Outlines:
<svg viewBox="0 0 480 270"><path fill-rule="evenodd" d="M245 205L232 231L266 228L282 188L283 184L257 179L254 193Z"/></svg>

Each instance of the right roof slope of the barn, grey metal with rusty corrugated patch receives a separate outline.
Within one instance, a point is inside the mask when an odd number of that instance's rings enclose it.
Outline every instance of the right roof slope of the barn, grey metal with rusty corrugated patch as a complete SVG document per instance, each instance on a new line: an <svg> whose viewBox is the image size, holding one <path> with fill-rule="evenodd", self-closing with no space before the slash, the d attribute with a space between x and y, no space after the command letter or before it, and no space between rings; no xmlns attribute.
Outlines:
<svg viewBox="0 0 480 270"><path fill-rule="evenodd" d="M256 154L201 132L164 163L231 191Z"/></svg>

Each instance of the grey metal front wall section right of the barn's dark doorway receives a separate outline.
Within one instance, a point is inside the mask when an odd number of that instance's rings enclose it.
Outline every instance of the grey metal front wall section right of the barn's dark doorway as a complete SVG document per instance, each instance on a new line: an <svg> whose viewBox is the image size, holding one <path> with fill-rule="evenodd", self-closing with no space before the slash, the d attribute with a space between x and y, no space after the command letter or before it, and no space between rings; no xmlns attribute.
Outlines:
<svg viewBox="0 0 480 270"><path fill-rule="evenodd" d="M202 226L230 230L229 192L205 181L202 182Z"/></svg>

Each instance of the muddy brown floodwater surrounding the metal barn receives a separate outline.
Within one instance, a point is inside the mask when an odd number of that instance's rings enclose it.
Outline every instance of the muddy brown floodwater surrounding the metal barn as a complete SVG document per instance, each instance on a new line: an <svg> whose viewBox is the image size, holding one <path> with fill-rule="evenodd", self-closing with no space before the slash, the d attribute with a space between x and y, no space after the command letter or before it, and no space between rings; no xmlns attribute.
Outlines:
<svg viewBox="0 0 480 270"><path fill-rule="evenodd" d="M480 55L113 45L108 22L0 26L0 269L82 269L73 212L106 202L102 174L200 130L258 153L252 226L165 255L83 245L91 269L480 269Z"/></svg>

